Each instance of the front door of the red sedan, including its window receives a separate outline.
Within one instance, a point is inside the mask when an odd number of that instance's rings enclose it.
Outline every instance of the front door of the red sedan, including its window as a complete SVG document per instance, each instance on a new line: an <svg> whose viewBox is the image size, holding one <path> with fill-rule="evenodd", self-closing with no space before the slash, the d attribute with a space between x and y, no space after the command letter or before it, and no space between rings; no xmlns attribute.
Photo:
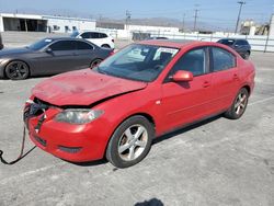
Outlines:
<svg viewBox="0 0 274 206"><path fill-rule="evenodd" d="M169 76L178 70L191 71L194 79L190 82L173 82L167 79L162 84L163 130L207 116L213 98L213 75L209 72L207 47L195 48L184 54Z"/></svg>

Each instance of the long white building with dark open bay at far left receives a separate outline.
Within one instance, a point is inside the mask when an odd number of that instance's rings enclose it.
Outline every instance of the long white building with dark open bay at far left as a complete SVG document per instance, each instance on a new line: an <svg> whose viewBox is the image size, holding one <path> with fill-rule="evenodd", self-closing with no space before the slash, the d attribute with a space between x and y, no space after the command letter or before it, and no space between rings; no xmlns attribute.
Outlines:
<svg viewBox="0 0 274 206"><path fill-rule="evenodd" d="M0 13L0 32L54 32L72 33L76 30L95 30L96 22L89 19L54 15Z"/></svg>

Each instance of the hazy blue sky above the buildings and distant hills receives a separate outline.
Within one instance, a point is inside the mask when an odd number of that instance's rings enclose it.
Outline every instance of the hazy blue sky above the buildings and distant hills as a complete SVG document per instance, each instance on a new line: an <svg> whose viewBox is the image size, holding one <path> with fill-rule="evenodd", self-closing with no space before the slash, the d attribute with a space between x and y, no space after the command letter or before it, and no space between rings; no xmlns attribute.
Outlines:
<svg viewBox="0 0 274 206"><path fill-rule="evenodd" d="M241 19L269 22L274 11L273 0L246 0ZM237 0L0 0L0 12L61 14L83 18L124 19L126 10L132 18L172 18L191 23L194 9L198 22L222 28L235 26L239 4Z"/></svg>

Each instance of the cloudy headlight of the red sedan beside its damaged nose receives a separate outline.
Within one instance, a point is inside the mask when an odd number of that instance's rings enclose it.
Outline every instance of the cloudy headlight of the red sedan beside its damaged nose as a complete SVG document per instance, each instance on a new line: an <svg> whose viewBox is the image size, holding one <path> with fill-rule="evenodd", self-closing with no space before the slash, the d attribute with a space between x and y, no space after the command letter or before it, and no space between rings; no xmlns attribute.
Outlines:
<svg viewBox="0 0 274 206"><path fill-rule="evenodd" d="M88 108L68 108L55 116L56 122L82 125L101 116L103 111Z"/></svg>

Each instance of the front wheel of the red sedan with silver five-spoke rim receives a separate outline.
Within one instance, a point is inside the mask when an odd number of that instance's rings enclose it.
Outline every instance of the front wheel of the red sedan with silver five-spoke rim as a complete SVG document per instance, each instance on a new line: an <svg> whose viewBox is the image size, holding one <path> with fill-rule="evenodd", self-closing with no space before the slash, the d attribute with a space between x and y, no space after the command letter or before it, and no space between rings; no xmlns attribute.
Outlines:
<svg viewBox="0 0 274 206"><path fill-rule="evenodd" d="M145 130L141 133L140 130L144 128ZM130 133L132 138L128 137L128 133ZM107 145L106 159L116 168L132 167L148 154L153 136L153 126L146 117L140 115L133 116L123 122L114 131ZM134 157L130 151L134 152Z"/></svg>

